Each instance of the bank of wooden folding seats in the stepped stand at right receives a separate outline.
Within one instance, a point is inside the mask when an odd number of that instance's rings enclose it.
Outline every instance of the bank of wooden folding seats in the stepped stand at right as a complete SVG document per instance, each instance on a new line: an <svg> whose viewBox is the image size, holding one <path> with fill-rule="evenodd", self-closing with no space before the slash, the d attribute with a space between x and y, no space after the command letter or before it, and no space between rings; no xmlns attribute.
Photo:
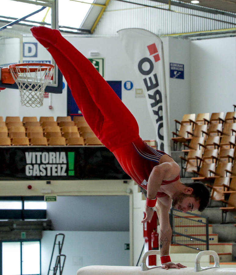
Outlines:
<svg viewBox="0 0 236 275"><path fill-rule="evenodd" d="M211 202L220 201L222 222L228 211L236 211L236 112L184 115L175 120L172 141L184 152L182 177L191 173L194 181L205 182L211 191Z"/></svg>

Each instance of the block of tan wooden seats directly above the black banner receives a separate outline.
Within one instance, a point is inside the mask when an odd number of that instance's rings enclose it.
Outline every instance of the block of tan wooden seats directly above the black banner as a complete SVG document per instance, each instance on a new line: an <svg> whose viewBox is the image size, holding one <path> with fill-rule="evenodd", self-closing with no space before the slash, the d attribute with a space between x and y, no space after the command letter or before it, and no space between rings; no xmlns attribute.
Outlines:
<svg viewBox="0 0 236 275"><path fill-rule="evenodd" d="M1 117L0 117L1 118ZM1 119L3 120L3 119ZM6 117L0 121L0 145L103 145L82 116Z"/></svg>

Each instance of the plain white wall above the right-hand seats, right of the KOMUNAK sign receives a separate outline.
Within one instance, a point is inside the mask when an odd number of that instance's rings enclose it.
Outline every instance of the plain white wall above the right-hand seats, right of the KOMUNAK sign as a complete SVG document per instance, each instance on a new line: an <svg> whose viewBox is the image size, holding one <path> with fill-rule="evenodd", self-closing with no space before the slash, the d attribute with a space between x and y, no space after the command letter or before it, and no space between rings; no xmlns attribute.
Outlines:
<svg viewBox="0 0 236 275"><path fill-rule="evenodd" d="M235 37L191 42L192 112L233 112L236 103Z"/></svg>

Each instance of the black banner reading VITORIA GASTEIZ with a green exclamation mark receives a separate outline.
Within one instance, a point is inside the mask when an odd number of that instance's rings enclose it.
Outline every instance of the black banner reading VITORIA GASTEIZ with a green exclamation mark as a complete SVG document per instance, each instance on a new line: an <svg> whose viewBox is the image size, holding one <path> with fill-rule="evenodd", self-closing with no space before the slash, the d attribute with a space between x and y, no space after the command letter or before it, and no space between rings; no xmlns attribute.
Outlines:
<svg viewBox="0 0 236 275"><path fill-rule="evenodd" d="M1 147L0 180L130 179L106 147Z"/></svg>

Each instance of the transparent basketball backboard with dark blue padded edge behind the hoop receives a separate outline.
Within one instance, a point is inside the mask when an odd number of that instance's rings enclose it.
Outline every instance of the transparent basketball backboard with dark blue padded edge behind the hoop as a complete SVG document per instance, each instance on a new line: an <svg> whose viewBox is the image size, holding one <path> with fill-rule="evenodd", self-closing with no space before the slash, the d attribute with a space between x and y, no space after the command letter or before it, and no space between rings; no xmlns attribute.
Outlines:
<svg viewBox="0 0 236 275"><path fill-rule="evenodd" d="M0 12L0 67L15 63L55 65L53 81L45 92L62 93L62 74L50 53L33 37L30 28L44 25L58 29L58 0L2 0ZM5 20L4 20L5 18ZM18 89L15 84L0 88Z"/></svg>

